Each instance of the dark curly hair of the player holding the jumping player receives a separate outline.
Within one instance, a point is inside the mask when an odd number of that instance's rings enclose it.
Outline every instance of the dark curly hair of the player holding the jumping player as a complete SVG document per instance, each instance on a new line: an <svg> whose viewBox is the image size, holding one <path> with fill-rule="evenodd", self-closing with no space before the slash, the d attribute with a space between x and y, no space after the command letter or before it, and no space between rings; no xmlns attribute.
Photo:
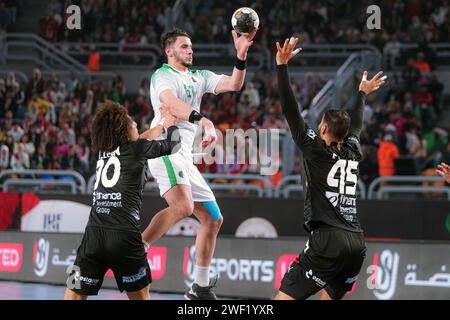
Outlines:
<svg viewBox="0 0 450 320"><path fill-rule="evenodd" d="M130 121L125 107L110 100L101 103L92 119L92 149L111 152L128 142Z"/></svg>

